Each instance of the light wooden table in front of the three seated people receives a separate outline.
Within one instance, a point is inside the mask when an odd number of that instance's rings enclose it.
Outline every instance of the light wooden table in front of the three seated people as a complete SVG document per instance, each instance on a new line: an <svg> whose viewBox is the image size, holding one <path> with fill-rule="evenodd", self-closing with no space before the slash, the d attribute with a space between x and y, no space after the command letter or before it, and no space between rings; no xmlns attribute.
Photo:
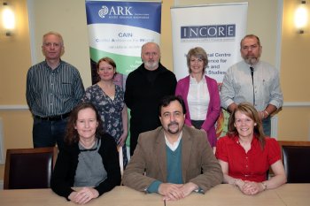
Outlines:
<svg viewBox="0 0 310 206"><path fill-rule="evenodd" d="M55 195L50 189L0 190L0 206L67 206L76 205ZM128 187L111 192L87 203L89 206L164 206L160 195L145 195ZM183 200L166 202L167 206L307 206L310 184L286 184L259 195L243 195L236 187L222 184L205 195L191 194Z"/></svg>

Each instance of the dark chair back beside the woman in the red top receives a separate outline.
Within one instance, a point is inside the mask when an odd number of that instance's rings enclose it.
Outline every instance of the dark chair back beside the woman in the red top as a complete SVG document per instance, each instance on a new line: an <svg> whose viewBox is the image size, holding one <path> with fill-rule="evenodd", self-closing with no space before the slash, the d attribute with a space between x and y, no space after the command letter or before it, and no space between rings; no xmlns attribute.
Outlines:
<svg viewBox="0 0 310 206"><path fill-rule="evenodd" d="M310 141L279 141L288 183L310 183Z"/></svg>

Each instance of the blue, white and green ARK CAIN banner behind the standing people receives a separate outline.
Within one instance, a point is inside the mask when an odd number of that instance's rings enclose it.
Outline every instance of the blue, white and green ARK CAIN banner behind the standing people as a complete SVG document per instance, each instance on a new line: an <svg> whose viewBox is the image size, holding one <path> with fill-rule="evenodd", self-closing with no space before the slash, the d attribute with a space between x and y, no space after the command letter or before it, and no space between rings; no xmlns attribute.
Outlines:
<svg viewBox="0 0 310 206"><path fill-rule="evenodd" d="M97 61L111 57L118 72L114 83L125 89L128 73L142 64L142 45L160 42L161 2L85 0L85 7L92 83L98 80Z"/></svg>

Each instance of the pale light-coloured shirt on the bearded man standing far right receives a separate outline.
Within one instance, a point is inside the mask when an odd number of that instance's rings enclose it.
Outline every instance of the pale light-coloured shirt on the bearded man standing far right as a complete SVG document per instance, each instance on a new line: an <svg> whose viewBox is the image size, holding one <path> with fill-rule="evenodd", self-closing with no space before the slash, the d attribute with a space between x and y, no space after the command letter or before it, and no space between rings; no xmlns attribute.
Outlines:
<svg viewBox="0 0 310 206"><path fill-rule="evenodd" d="M275 67L262 61L252 65L252 84L250 66L242 61L229 67L221 86L221 106L227 109L231 103L253 103L255 95L254 107L258 111L265 110L268 104L275 105L276 108L282 107L283 93Z"/></svg>

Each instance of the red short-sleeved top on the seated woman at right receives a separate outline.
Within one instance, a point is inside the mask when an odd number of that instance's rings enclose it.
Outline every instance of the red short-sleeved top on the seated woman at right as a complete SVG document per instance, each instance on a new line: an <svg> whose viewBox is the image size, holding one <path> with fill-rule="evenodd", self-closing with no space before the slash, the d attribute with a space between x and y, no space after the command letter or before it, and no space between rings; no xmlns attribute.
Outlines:
<svg viewBox="0 0 310 206"><path fill-rule="evenodd" d="M281 159L281 149L277 141L270 137L265 140L265 148L261 149L260 141L254 135L251 149L245 153L238 136L225 136L217 142L215 156L229 164L229 176L261 182L267 179L270 165Z"/></svg>

